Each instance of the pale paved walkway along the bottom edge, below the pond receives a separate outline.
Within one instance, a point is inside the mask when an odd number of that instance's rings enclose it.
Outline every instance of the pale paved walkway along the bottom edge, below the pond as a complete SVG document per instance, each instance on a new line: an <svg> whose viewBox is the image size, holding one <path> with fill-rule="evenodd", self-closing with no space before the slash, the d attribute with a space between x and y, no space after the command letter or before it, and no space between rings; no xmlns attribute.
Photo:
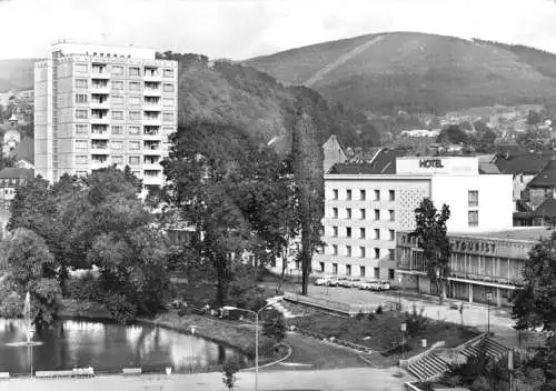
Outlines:
<svg viewBox="0 0 556 391"><path fill-rule="evenodd" d="M396 378L397 370L341 369L324 371L272 371L259 373L259 390L321 391L401 391L405 381ZM237 390L254 390L255 374L238 373ZM122 378L99 377L81 380L8 380L0 382L2 391L218 391L224 390L220 373Z"/></svg>

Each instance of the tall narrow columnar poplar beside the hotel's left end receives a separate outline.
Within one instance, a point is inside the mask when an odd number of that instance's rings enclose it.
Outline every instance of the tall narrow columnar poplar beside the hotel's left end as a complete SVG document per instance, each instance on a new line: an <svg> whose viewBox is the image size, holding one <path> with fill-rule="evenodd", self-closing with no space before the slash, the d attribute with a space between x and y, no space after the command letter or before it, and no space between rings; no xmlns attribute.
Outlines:
<svg viewBox="0 0 556 391"><path fill-rule="evenodd" d="M301 294L307 294L312 253L321 244L324 217L322 148L311 117L300 106L292 130L294 178L301 228Z"/></svg>

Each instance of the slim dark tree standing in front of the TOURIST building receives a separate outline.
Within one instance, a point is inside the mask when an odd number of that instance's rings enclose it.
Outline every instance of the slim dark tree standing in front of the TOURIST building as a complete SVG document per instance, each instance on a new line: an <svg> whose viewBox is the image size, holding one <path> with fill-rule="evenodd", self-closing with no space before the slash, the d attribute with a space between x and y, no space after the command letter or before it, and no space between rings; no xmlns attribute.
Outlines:
<svg viewBox="0 0 556 391"><path fill-rule="evenodd" d="M435 208L429 198L421 201L415 210L416 228L409 234L418 239L426 262L427 275L438 287L438 295L443 298L444 281L449 273L451 244L448 240L446 222L450 217L448 205L441 211Z"/></svg>

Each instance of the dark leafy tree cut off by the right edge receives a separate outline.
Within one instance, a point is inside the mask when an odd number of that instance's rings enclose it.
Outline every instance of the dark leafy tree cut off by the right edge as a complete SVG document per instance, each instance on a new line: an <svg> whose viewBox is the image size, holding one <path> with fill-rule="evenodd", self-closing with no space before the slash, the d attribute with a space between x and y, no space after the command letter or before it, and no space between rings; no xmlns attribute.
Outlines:
<svg viewBox="0 0 556 391"><path fill-rule="evenodd" d="M529 252L524 284L512 297L512 317L518 330L556 330L556 233Z"/></svg>

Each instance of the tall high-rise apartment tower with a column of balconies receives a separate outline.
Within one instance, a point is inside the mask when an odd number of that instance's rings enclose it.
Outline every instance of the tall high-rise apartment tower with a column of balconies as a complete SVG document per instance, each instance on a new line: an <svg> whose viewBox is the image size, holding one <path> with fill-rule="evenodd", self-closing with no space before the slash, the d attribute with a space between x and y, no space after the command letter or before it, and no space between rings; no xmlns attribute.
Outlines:
<svg viewBox="0 0 556 391"><path fill-rule="evenodd" d="M160 186L177 80L177 62L150 49L53 44L34 66L36 174L53 182L117 164Z"/></svg>

